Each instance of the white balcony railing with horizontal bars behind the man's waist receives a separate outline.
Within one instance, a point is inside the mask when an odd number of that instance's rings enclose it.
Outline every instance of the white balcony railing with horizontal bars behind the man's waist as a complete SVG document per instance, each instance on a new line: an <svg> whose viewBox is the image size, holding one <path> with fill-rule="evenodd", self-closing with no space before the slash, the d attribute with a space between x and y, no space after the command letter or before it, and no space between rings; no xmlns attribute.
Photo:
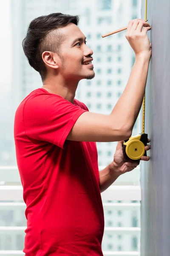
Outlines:
<svg viewBox="0 0 170 256"><path fill-rule="evenodd" d="M102 166L99 168L103 169ZM4 172L5 171L5 172ZM13 175L9 175L9 172ZM134 209L140 207L140 203L105 203L105 201L141 201L141 188L139 184L139 167L134 170L133 181L128 174L122 175L114 185L110 186L105 192L102 192L103 207L114 207L119 209ZM12 176L12 178L11 178ZM16 184L16 185L15 185ZM134 184L134 185L133 185ZM14 201L14 202L8 202ZM20 201L20 202L17 202ZM23 202L23 188L20 185L20 177L16 166L0 166L0 209L25 209ZM23 234L26 227L0 227L0 234L15 233ZM105 227L105 233L114 234L132 234L139 235L139 227ZM134 251L104 251L104 256L139 256L139 252ZM0 250L2 255L24 255L22 251Z"/></svg>

